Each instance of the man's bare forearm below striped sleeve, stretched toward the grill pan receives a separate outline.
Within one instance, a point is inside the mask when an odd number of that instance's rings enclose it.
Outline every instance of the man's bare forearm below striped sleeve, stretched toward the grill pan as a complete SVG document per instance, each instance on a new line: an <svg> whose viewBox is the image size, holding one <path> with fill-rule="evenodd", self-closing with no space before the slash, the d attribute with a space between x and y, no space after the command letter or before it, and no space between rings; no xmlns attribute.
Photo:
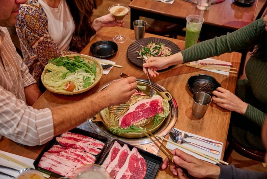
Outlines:
<svg viewBox="0 0 267 179"><path fill-rule="evenodd" d="M54 136L79 126L88 117L109 106L108 101L100 100L104 97L105 91L101 91L76 103L52 108Z"/></svg>

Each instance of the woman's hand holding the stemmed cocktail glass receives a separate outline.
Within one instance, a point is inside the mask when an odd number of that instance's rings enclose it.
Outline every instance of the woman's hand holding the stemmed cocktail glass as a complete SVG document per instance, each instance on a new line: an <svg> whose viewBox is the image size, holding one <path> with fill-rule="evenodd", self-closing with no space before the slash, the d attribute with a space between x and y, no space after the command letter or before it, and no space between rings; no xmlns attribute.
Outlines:
<svg viewBox="0 0 267 179"><path fill-rule="evenodd" d="M96 18L93 21L93 28L98 31L101 27L115 27L115 26L125 26L124 21L121 20L120 24L117 23L116 19L112 14L103 15L99 18Z"/></svg>

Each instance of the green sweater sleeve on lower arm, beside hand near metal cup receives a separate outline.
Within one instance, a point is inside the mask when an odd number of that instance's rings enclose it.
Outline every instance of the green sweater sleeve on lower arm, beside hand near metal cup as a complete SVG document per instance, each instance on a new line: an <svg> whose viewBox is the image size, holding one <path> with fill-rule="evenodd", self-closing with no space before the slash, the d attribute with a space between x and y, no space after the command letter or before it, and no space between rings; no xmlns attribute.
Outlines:
<svg viewBox="0 0 267 179"><path fill-rule="evenodd" d="M262 126L265 121L266 113L248 104L248 108L244 116L258 124L259 126Z"/></svg>

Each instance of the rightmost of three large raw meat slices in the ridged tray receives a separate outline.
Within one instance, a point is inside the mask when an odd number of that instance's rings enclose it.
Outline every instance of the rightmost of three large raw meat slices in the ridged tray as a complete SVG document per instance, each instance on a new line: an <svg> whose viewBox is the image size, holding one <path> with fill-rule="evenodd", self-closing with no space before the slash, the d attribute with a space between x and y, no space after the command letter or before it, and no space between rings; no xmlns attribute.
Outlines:
<svg viewBox="0 0 267 179"><path fill-rule="evenodd" d="M133 148L124 165L118 172L116 179L143 179L147 172L145 159Z"/></svg>

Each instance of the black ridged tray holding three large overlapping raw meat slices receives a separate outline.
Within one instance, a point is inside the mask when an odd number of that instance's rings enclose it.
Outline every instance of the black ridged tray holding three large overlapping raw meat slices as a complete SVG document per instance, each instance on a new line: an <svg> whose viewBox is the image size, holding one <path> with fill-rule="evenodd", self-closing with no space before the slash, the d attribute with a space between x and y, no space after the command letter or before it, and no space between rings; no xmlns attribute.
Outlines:
<svg viewBox="0 0 267 179"><path fill-rule="evenodd" d="M112 140L99 163L111 178L154 179L162 164L162 158L120 140Z"/></svg>

